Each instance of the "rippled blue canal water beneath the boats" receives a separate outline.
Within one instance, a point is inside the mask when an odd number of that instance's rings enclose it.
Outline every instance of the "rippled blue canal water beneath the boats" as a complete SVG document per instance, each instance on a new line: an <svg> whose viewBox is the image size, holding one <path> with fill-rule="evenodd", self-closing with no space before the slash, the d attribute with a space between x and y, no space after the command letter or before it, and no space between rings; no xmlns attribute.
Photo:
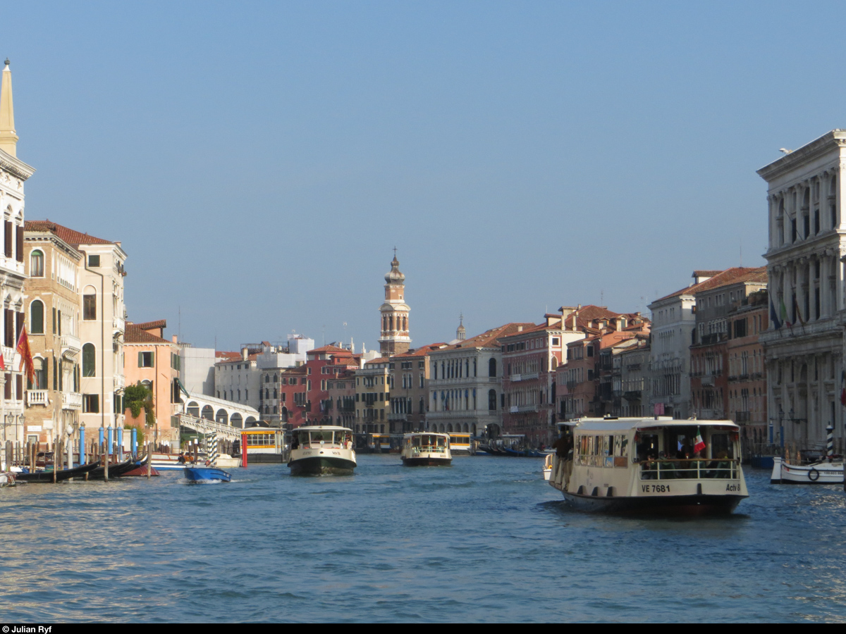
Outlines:
<svg viewBox="0 0 846 634"><path fill-rule="evenodd" d="M541 461L0 489L3 620L846 620L846 497L747 470L731 517L571 511Z"/></svg>

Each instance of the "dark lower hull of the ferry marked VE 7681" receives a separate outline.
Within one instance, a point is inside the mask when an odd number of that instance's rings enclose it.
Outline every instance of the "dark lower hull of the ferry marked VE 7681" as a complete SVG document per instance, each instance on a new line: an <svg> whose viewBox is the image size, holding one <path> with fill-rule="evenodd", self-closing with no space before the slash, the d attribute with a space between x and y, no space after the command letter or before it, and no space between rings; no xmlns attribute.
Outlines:
<svg viewBox="0 0 846 634"><path fill-rule="evenodd" d="M616 515L719 516L731 515L748 495L662 495L607 498L563 491L564 499L580 511Z"/></svg>

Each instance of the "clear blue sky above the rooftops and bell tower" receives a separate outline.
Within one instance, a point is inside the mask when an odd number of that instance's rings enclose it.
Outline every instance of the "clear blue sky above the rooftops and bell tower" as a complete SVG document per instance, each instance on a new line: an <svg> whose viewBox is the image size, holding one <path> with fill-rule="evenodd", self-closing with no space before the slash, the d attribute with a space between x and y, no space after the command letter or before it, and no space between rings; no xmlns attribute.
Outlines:
<svg viewBox="0 0 846 634"><path fill-rule="evenodd" d="M846 127L844 3L14 3L26 216L221 349L645 310L761 265L755 170ZM346 322L346 328L343 323Z"/></svg>

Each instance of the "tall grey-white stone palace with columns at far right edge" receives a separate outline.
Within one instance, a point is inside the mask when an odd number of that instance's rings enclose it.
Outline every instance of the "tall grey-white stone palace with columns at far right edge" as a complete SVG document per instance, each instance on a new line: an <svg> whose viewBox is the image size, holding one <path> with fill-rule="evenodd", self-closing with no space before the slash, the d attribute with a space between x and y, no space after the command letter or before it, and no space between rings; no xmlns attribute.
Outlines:
<svg viewBox="0 0 846 634"><path fill-rule="evenodd" d="M777 442L821 449L831 426L843 446L843 172L836 129L758 170L767 183L770 328L767 413ZM774 319L773 319L774 317Z"/></svg>

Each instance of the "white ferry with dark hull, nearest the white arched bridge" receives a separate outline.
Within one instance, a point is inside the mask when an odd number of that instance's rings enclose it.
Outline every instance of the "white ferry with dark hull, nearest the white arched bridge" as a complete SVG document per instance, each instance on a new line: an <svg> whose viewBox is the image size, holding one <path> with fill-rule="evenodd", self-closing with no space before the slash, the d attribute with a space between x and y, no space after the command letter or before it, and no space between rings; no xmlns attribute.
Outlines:
<svg viewBox="0 0 846 634"><path fill-rule="evenodd" d="M294 429L291 475L352 475L357 466L353 430L332 425Z"/></svg>

